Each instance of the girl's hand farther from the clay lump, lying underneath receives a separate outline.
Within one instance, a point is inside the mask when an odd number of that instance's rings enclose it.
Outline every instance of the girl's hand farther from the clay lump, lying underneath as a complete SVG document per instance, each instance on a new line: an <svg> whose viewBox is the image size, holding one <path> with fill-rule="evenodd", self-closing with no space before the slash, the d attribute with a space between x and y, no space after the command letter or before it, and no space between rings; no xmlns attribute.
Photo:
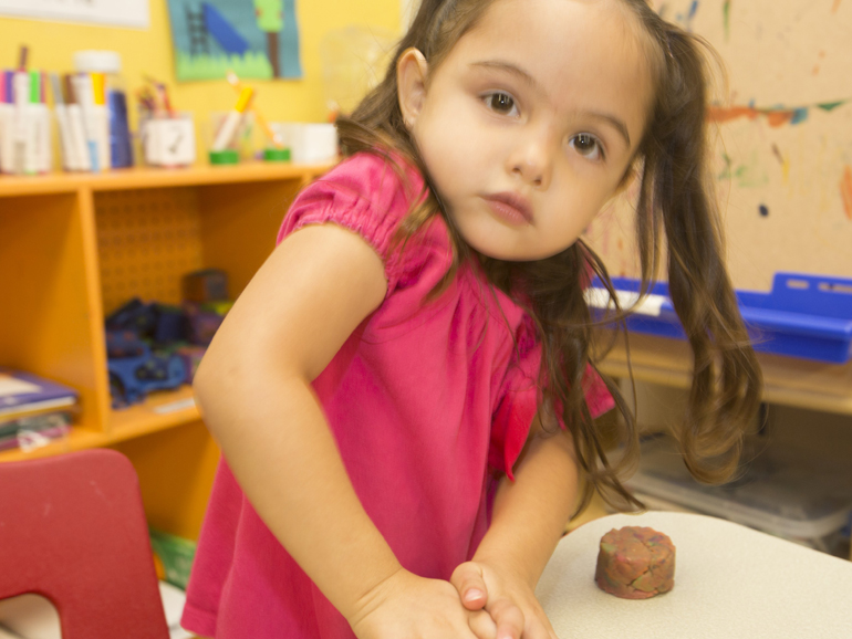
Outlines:
<svg viewBox="0 0 852 639"><path fill-rule="evenodd" d="M354 606L346 619L359 639L496 639L485 610L468 610L449 582L399 569Z"/></svg>

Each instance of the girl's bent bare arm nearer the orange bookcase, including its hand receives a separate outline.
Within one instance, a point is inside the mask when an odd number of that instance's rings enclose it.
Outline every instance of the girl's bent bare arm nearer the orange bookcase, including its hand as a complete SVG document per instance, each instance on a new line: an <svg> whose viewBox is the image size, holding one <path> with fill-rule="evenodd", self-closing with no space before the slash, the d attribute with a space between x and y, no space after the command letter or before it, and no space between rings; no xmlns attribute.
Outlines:
<svg viewBox="0 0 852 639"><path fill-rule="evenodd" d="M196 397L254 510L359 637L414 636L407 625L418 621L418 636L472 637L455 588L404 570L367 516L311 388L386 287L381 259L356 234L297 231L228 313Z"/></svg>

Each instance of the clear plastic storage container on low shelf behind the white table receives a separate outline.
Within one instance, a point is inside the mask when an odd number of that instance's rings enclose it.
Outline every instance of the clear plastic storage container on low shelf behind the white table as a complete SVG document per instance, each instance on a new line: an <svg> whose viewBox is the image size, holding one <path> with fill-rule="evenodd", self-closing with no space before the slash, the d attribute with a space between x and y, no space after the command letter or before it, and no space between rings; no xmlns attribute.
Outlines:
<svg viewBox="0 0 852 639"><path fill-rule="evenodd" d="M739 479L723 486L695 481L667 437L642 443L640 470L627 485L686 510L716 515L831 552L852 512L852 469L823 457L749 441ZM759 453L759 454L758 454Z"/></svg>

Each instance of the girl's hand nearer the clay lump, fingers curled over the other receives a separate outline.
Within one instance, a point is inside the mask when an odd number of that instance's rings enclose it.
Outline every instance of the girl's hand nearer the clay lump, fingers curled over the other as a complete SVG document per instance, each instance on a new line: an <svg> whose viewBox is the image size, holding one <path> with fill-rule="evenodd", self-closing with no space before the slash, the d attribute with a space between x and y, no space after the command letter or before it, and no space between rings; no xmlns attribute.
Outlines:
<svg viewBox="0 0 852 639"><path fill-rule="evenodd" d="M450 583L468 610L490 614L497 639L558 639L534 589L510 568L466 562L453 572Z"/></svg>

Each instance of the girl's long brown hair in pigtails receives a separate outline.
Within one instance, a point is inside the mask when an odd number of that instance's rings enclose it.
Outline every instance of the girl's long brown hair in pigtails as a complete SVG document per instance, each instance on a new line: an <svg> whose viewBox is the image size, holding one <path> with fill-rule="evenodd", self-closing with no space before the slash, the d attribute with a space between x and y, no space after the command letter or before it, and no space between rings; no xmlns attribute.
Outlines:
<svg viewBox="0 0 852 639"><path fill-rule="evenodd" d="M423 0L396 50L384 81L352 115L337 121L344 155L370 151L397 155L429 175L399 109L396 63L408 48L418 49L437 69L456 42L496 0ZM718 483L735 471L742 436L755 415L761 389L760 369L749 346L723 255L723 233L711 197L707 158L707 57L702 39L662 20L646 0L620 0L642 25L641 35L655 82L634 166L641 175L636 233L646 294L661 260L664 232L672 302L695 355L693 383L684 420L677 432L689 471L703 482ZM402 172L402 171L399 171ZM454 231L435 189L407 216L401 233L411 237L429 218L444 216L453 235L455 262L472 251ZM613 380L601 376L624 416L617 464L605 444L584 397L586 368L603 355L595 347L600 322L593 321L583 290L590 271L615 298L606 268L582 241L551 258L507 262L477 255L489 282L521 304L532 317L542 344L542 400L557 407L574 441L583 482L581 506L599 490L616 506L642 504L621 482L623 471L638 458L638 437L630 408ZM630 310L616 308L609 320L621 322ZM596 369L596 368L595 368Z"/></svg>

